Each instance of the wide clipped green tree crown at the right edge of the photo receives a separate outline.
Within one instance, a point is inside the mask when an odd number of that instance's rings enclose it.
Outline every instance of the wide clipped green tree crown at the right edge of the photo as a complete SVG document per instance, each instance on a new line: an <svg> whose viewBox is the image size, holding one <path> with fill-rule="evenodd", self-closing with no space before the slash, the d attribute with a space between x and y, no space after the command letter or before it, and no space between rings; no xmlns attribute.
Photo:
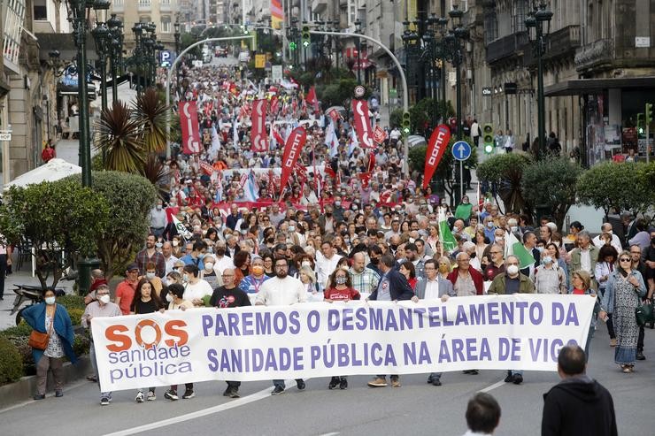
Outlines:
<svg viewBox="0 0 655 436"><path fill-rule="evenodd" d="M655 163L594 165L578 179L578 201L604 210L605 217L613 210L643 213L653 204L653 174Z"/></svg>

